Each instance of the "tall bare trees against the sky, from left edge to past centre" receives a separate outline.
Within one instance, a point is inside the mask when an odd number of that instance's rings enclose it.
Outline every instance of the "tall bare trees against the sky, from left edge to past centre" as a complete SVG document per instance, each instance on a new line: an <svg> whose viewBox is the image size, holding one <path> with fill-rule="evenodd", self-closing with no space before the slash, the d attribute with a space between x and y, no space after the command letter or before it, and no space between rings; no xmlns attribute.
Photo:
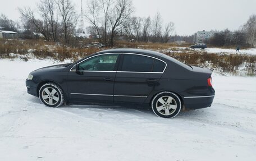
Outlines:
<svg viewBox="0 0 256 161"><path fill-rule="evenodd" d="M132 42L167 43L174 31L174 23L164 25L160 13L153 19L132 16L132 0L89 0L85 11L89 34L109 46L113 46L117 36ZM77 29L80 15L71 0L41 0L36 10L21 7L19 12L24 29L41 33L47 41L69 43L76 32L81 32ZM0 24L5 29L17 30L15 22L4 15Z"/></svg>

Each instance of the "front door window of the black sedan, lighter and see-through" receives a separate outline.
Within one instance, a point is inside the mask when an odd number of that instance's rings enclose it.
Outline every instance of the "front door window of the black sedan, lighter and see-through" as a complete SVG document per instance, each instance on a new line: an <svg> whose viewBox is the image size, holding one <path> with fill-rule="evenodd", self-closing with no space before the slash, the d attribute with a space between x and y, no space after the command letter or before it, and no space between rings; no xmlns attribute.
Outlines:
<svg viewBox="0 0 256 161"><path fill-rule="evenodd" d="M79 63L80 71L113 71L118 54L103 54Z"/></svg>

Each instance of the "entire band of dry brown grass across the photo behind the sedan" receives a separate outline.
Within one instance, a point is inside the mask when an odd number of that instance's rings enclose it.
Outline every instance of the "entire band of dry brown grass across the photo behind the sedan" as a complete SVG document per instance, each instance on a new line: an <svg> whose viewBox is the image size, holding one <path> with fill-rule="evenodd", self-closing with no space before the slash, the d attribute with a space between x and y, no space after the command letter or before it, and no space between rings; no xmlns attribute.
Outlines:
<svg viewBox="0 0 256 161"><path fill-rule="evenodd" d="M78 43L81 43L80 45ZM76 61L95 52L107 48L83 48L88 42L77 42L70 46L45 42L43 40L6 40L0 39L0 58L13 58L13 54L19 54L27 61L29 56L35 58L52 58L59 61L71 59ZM92 43L92 42L89 42ZM83 44L83 45L82 45ZM159 43L130 43L118 42L116 48L140 48L158 50L168 56L178 59L188 65L204 66L211 70L235 73L240 67L243 67L249 75L255 75L256 56L246 54L214 54L198 52L189 49L176 49L175 47L188 47L190 44L159 44ZM86 46L86 45L84 45Z"/></svg>

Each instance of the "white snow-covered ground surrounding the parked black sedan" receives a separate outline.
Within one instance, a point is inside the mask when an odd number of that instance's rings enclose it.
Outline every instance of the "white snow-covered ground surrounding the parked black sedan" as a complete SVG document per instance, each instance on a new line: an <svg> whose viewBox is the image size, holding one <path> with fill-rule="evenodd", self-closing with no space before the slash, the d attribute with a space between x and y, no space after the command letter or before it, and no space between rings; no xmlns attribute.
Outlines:
<svg viewBox="0 0 256 161"><path fill-rule="evenodd" d="M256 77L213 73L212 107L165 119L135 107L45 107L25 79L53 63L0 59L0 160L256 160Z"/></svg>

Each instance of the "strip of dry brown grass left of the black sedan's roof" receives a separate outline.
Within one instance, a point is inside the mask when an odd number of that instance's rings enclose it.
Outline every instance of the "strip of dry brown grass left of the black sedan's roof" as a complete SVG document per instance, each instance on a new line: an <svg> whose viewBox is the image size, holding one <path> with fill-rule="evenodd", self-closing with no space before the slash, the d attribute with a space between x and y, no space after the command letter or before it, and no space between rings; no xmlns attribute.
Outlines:
<svg viewBox="0 0 256 161"><path fill-rule="evenodd" d="M77 48L66 45L45 42L43 40L4 40L0 39L0 58L12 58L12 54L28 56L33 54L35 58L53 58L60 61L79 58L98 52L98 48Z"/></svg>

